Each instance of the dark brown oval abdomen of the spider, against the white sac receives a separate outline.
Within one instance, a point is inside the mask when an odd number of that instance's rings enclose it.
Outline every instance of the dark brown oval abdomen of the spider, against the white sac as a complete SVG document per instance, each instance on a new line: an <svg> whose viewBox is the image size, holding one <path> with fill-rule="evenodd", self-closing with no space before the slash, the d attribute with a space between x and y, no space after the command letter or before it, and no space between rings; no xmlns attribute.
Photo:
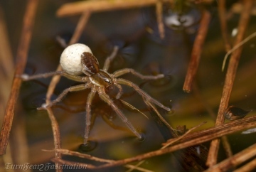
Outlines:
<svg viewBox="0 0 256 172"><path fill-rule="evenodd" d="M92 53L84 52L81 55L81 63L82 63L82 72L85 75L94 75L95 73L100 71L100 65Z"/></svg>

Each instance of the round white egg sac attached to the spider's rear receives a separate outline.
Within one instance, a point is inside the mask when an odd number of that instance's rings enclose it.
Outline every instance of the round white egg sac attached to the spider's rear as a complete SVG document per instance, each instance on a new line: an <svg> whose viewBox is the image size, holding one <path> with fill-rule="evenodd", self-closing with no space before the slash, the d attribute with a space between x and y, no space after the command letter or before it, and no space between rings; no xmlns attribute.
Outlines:
<svg viewBox="0 0 256 172"><path fill-rule="evenodd" d="M69 45L60 55L60 65L65 72L70 75L82 74L82 53L92 53L90 48L82 43Z"/></svg>

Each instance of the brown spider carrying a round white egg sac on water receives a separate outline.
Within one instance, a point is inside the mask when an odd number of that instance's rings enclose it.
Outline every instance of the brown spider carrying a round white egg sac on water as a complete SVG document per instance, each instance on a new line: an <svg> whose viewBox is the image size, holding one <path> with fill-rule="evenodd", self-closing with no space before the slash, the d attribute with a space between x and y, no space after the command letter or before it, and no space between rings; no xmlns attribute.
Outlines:
<svg viewBox="0 0 256 172"><path fill-rule="evenodd" d="M91 89L89 95L87 96L86 102L86 116L85 116L85 135L84 135L84 143L87 144L90 132L90 118L91 118L91 104L92 99L97 92L101 100L106 102L112 107L114 112L118 114L118 116L122 119L122 121L127 125L127 127L139 138L142 139L142 135L134 128L131 122L124 116L122 111L114 104L113 100L107 95L106 90L111 86L115 86L118 88L118 92L116 95L116 99L119 99L122 95L122 86L127 85L129 87L134 88L139 95L143 97L144 101L152 102L159 107L170 111L169 107L165 107L159 101L150 97L146 92L140 89L137 85L129 80L124 80L122 78L117 78L126 73L132 73L133 75L142 78L143 80L156 80L164 77L163 74L160 75L142 75L139 72L136 72L132 68L124 68L121 70L117 70L114 73L110 74L107 70L110 67L110 62L114 59L117 53L117 46L114 46L113 53L105 60L105 64L103 69L100 69L99 62L94 55L92 55L92 51L87 45L76 43L73 45L69 45L63 53L60 55L60 65L63 68L63 71L55 71L48 72L38 75L28 76L26 74L21 75L23 80L33 80L41 77L50 77L53 75L62 75L63 77L67 77L70 80L74 80L77 82L82 82L80 85L71 86L65 89L58 97L50 102L49 104L43 104L41 108L38 109L46 109L48 107L53 106L57 102L63 99L63 97L68 94L68 92L76 92L85 89ZM84 75L81 75L84 74Z"/></svg>

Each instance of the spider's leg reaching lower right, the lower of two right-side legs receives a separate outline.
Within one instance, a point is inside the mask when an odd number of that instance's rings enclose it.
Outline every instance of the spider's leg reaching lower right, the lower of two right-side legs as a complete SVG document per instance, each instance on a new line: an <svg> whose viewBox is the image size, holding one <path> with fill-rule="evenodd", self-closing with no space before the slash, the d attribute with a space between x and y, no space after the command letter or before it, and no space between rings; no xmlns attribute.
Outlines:
<svg viewBox="0 0 256 172"><path fill-rule="evenodd" d="M142 89L140 89L139 86L134 84L133 82L131 82L129 80L124 80L122 78L116 79L116 80L114 80L114 82L117 84L122 84L122 85L127 85L129 87L133 87L134 90L136 90L139 93L139 95L142 95L142 97L144 97L149 102L153 102L154 104L158 105L159 107L166 109L167 111L171 111L171 109L169 107L165 107L159 101L152 98L150 95L148 95L146 92L144 92Z"/></svg>

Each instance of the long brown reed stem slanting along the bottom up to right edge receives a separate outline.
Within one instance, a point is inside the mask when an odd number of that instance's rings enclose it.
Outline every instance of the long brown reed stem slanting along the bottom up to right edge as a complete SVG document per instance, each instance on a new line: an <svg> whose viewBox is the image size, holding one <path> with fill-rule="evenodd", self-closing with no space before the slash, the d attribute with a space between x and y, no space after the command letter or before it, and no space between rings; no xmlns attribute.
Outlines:
<svg viewBox="0 0 256 172"><path fill-rule="evenodd" d="M230 129L231 127L232 127L232 130ZM102 166L97 166L97 167L92 167L92 168L109 168L112 166L122 166L126 163L131 163L133 161L142 161L145 158L151 158L153 156L160 156L162 154L168 154L173 151L177 151L177 150L184 149L184 148L187 148L190 146L202 144L206 141L210 141L212 139L216 139L221 136L228 135L228 134L233 134L235 132L242 131L245 129L250 129L252 127L256 127L256 116L248 117L245 119L239 119L237 121L229 122L228 124L223 124L223 125L220 125L217 127L210 128L210 129L196 131L192 134L188 134L188 135L184 136L181 140L178 140L175 145L167 147L166 149L159 149L156 151L151 151L146 154L141 154L138 156L134 156L132 158L126 158L126 159L114 161L112 163L107 163Z"/></svg>

